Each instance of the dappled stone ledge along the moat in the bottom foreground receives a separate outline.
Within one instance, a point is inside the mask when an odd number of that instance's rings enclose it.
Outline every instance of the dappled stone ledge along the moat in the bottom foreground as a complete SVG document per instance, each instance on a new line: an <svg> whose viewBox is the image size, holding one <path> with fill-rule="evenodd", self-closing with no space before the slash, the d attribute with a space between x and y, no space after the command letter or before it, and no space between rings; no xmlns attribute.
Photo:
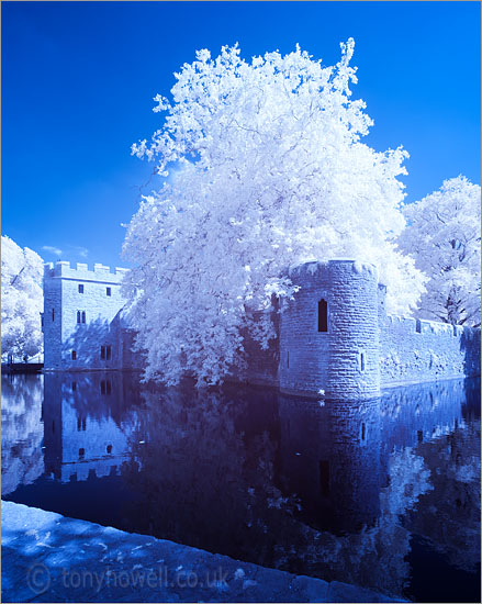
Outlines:
<svg viewBox="0 0 482 604"><path fill-rule="evenodd" d="M18 503L1 513L2 602L403 602Z"/></svg>

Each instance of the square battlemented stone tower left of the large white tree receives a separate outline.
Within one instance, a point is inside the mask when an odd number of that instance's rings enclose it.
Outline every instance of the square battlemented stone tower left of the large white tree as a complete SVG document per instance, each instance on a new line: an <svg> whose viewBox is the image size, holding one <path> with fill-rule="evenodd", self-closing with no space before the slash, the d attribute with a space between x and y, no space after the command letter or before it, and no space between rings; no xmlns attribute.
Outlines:
<svg viewBox="0 0 482 604"><path fill-rule="evenodd" d="M44 267L44 368L46 370L120 369L122 334L114 317L127 269L100 264L58 261Z"/></svg>

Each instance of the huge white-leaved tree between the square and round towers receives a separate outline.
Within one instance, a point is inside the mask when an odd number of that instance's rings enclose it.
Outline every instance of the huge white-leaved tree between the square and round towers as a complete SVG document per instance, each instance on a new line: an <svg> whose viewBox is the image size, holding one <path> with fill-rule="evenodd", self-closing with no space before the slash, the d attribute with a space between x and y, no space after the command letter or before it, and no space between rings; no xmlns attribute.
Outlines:
<svg viewBox="0 0 482 604"><path fill-rule="evenodd" d="M393 311L416 303L423 278L394 244L407 154L360 142L371 120L350 100L352 52L349 40L340 61L322 67L299 47L250 63L237 46L215 59L204 49L176 74L172 103L156 97L164 125L133 153L156 159L165 181L124 243L147 378L221 380L242 357L249 311L292 294L280 275L296 262L371 261ZM268 322L256 337L273 337Z"/></svg>

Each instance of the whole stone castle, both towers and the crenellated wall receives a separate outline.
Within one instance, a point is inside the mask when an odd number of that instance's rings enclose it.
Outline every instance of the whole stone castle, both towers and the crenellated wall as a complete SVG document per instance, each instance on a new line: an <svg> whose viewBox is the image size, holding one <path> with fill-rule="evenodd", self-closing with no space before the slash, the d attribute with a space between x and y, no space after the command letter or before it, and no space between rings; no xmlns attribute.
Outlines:
<svg viewBox="0 0 482 604"><path fill-rule="evenodd" d="M125 271L45 266L46 370L142 368L123 318ZM480 376L480 328L388 316L373 265L311 261L288 275L299 290L269 311L277 337L261 350L244 334L246 369L234 379L350 401L394 385Z"/></svg>

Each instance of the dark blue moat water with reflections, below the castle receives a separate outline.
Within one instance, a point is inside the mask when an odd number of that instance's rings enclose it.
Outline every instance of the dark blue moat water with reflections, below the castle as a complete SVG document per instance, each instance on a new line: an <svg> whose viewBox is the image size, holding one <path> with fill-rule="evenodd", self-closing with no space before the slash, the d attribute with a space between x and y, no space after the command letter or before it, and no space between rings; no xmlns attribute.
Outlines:
<svg viewBox="0 0 482 604"><path fill-rule="evenodd" d="M323 403L2 377L2 499L418 602L480 602L480 380Z"/></svg>

